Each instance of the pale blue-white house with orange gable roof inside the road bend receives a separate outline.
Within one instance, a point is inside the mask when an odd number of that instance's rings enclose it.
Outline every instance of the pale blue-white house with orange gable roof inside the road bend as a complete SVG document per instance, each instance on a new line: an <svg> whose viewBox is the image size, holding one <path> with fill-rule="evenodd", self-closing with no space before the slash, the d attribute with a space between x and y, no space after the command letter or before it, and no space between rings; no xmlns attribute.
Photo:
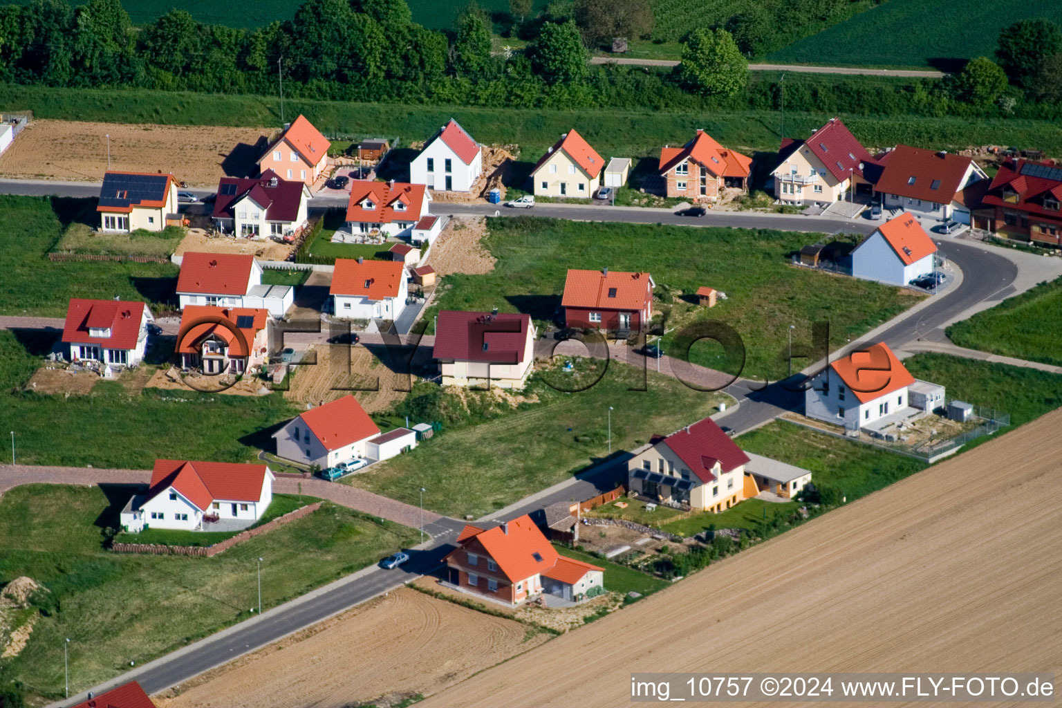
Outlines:
<svg viewBox="0 0 1062 708"><path fill-rule="evenodd" d="M852 252L852 275L893 286L906 286L932 273L937 244L914 215L905 211L890 219Z"/></svg>

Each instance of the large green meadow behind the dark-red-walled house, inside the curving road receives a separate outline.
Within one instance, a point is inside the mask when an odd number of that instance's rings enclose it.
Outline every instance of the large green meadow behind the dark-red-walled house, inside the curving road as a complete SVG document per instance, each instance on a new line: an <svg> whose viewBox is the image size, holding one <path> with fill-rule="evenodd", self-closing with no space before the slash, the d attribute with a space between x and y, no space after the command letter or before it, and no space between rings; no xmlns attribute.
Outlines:
<svg viewBox="0 0 1062 708"><path fill-rule="evenodd" d="M733 327L746 347L743 374L785 376L788 327L794 351L810 340L812 322L830 323L833 341L855 339L914 305L910 291L817 273L789 264L788 254L816 236L775 230L634 226L528 217L489 219L483 245L498 259L485 275L449 275L438 308L526 312L552 321L561 305L568 267L647 271L657 284L690 297L700 286L727 295L713 309L680 299L668 328L716 320ZM452 287L451 287L452 286ZM664 303L654 303L660 309ZM431 312L425 320L431 322ZM683 356L678 332L664 350ZM682 338L688 344L690 338ZM816 352L813 359L824 356ZM705 342L690 359L736 372L733 362ZM798 364L800 362L798 361ZM801 368L798 365L795 368Z"/></svg>

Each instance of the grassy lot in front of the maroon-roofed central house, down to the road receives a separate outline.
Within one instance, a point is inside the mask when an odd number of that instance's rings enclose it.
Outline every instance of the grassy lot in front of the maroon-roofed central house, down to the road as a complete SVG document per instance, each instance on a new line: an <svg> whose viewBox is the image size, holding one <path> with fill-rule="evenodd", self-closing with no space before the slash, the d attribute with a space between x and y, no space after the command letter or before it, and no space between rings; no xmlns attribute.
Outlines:
<svg viewBox="0 0 1062 708"><path fill-rule="evenodd" d="M638 372L616 363L596 385L579 393L562 393L544 383L547 377L559 386L589 385L604 370L597 361L582 362L579 368L573 375L556 369L535 374L524 396L537 402L487 419L444 424L435 437L375 465L367 474L347 478L349 484L411 504L419 503L423 486L425 507L458 518L479 517L606 457L610 405L612 449L618 452L709 415L719 401L731 400L655 373L648 375L648 391L630 391L638 386ZM462 398L477 405L475 398L483 395L467 392ZM410 421L431 419L411 416Z"/></svg>

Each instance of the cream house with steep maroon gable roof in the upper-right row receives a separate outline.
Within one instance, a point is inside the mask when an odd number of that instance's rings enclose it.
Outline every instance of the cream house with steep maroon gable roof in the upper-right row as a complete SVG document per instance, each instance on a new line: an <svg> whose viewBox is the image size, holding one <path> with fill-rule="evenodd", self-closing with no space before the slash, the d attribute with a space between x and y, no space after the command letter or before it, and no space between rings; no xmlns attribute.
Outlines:
<svg viewBox="0 0 1062 708"><path fill-rule="evenodd" d="M784 138L771 172L782 204L833 204L851 192L869 192L877 162L839 118L807 139Z"/></svg>

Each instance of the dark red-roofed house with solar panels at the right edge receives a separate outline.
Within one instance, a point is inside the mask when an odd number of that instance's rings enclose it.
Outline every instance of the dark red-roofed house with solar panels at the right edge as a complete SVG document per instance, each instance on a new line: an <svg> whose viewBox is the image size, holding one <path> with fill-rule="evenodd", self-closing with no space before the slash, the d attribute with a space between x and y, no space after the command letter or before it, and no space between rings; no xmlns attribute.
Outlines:
<svg viewBox="0 0 1062 708"><path fill-rule="evenodd" d="M993 210L992 230L1039 245L1062 246L1062 167L1010 160L982 198Z"/></svg>

